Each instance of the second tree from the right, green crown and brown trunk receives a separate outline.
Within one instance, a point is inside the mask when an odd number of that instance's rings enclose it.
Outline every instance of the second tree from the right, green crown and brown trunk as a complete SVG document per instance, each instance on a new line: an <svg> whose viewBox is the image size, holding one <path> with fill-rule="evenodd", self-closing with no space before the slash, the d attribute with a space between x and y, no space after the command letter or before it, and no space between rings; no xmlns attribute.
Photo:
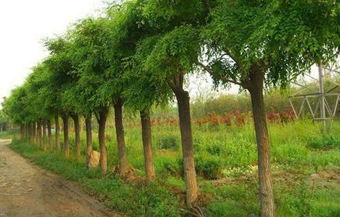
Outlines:
<svg viewBox="0 0 340 217"><path fill-rule="evenodd" d="M147 1L143 8L146 23L154 29L154 47L143 62L156 83L167 83L178 102L186 203L195 205L198 186L195 173L189 92L184 79L195 70L200 45L196 27L205 23L206 6L202 1ZM144 21L144 20L143 20Z"/></svg>

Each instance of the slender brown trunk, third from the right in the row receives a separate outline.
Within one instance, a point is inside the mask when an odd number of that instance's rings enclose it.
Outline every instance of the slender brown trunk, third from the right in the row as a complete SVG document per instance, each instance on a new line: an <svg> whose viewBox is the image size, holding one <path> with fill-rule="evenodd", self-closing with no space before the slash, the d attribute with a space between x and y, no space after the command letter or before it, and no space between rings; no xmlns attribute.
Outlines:
<svg viewBox="0 0 340 217"><path fill-rule="evenodd" d="M147 181L151 181L156 176L154 166L154 153L152 152L151 123L149 110L141 111L142 138L144 149L144 165Z"/></svg>

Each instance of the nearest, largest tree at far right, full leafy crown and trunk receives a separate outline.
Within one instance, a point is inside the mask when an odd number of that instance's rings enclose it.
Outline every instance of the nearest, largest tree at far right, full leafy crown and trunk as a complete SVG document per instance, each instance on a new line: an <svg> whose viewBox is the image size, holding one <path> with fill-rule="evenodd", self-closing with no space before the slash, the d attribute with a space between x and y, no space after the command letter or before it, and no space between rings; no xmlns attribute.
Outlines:
<svg viewBox="0 0 340 217"><path fill-rule="evenodd" d="M203 60L197 64L213 76L216 84L239 84L250 92L258 144L261 216L274 216L264 85L285 86L315 62L335 57L339 31L330 34L330 28L337 25L339 4L215 1L210 18L202 31L209 63Z"/></svg>

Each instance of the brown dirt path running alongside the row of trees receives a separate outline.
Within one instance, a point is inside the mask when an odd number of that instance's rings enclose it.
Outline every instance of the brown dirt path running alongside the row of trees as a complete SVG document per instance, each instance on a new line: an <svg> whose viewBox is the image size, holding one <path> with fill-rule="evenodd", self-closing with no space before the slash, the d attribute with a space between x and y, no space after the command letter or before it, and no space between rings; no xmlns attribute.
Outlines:
<svg viewBox="0 0 340 217"><path fill-rule="evenodd" d="M75 183L34 166L0 140L0 217L118 217Z"/></svg>

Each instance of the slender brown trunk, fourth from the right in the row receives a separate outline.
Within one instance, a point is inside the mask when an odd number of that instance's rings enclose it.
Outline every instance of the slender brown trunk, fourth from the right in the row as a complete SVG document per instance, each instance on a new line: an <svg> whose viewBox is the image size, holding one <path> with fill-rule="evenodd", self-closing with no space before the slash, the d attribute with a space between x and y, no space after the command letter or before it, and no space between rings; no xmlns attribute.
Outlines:
<svg viewBox="0 0 340 217"><path fill-rule="evenodd" d="M127 158L123 127L123 100L119 99L114 103L114 123L116 125L116 136L119 152L119 173L124 175L127 172Z"/></svg>

